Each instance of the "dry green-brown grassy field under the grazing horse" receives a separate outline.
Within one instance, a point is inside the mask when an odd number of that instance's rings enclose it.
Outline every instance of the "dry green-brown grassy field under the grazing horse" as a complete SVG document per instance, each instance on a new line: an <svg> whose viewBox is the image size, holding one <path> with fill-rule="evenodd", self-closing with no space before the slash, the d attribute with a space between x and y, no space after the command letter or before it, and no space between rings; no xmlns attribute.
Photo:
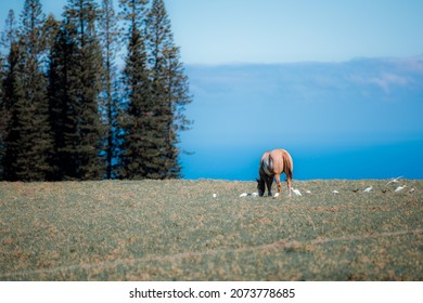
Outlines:
<svg viewBox="0 0 423 303"><path fill-rule="evenodd" d="M423 181L385 184L0 183L0 280L423 280Z"/></svg>

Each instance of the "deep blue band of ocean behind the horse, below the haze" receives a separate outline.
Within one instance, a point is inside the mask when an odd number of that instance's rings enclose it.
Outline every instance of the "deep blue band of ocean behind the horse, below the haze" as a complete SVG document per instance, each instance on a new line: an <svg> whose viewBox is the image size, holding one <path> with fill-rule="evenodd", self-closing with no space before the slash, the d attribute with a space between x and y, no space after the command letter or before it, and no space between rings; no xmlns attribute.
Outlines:
<svg viewBox="0 0 423 303"><path fill-rule="evenodd" d="M283 146L281 146L283 147ZM183 179L254 181L261 153L268 148L249 146L219 148L198 146L193 155L182 155ZM359 146L291 146L294 180L321 179L423 179L423 140Z"/></svg>

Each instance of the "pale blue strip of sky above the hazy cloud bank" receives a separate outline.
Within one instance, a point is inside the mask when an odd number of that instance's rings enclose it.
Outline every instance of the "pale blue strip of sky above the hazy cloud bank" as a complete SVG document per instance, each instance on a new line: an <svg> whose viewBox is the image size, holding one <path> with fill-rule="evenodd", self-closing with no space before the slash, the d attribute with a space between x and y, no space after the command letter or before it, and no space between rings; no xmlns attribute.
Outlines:
<svg viewBox="0 0 423 303"><path fill-rule="evenodd" d="M42 0L59 16L65 0ZM115 6L117 8L117 0ZM9 9L0 1L0 27ZM347 61L423 54L420 0L166 0L185 64Z"/></svg>

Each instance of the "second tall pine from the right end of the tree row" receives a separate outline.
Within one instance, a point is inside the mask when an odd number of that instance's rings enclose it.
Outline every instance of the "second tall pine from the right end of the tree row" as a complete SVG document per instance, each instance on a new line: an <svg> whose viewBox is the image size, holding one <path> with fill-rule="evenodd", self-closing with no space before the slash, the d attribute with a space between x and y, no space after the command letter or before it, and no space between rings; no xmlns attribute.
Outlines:
<svg viewBox="0 0 423 303"><path fill-rule="evenodd" d="M129 29L128 54L125 62L124 85L126 115L123 119L124 139L121 168L125 179L157 179L159 157L155 132L155 113L152 98L148 54L145 50L145 5L143 0L120 0L123 18Z"/></svg>

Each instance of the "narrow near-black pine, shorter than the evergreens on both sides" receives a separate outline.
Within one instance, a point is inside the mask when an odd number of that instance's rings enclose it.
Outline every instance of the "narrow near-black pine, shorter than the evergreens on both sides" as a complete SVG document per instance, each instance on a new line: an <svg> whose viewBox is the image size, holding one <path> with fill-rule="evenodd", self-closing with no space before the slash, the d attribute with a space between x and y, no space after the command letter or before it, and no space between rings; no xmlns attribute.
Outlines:
<svg viewBox="0 0 423 303"><path fill-rule="evenodd" d="M76 41L64 21L50 52L49 117L53 131L53 180L79 179L78 85Z"/></svg>

